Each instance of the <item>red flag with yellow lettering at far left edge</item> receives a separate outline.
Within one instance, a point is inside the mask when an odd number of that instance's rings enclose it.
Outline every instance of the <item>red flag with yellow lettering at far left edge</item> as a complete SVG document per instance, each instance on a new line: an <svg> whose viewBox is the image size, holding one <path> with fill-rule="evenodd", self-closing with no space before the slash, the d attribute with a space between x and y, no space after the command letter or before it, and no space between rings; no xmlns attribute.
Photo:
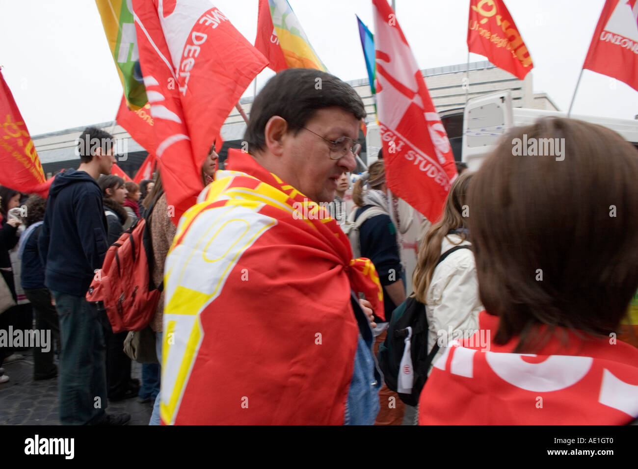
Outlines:
<svg viewBox="0 0 638 469"><path fill-rule="evenodd" d="M1 71L0 126L0 184L47 197L51 181L45 181L36 147Z"/></svg>

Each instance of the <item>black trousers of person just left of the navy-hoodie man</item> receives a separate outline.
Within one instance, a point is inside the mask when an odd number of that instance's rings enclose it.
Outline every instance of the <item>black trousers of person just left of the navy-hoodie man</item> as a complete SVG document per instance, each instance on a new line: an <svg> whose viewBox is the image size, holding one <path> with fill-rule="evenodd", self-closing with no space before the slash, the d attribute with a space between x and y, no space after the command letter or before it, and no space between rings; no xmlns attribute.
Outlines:
<svg viewBox="0 0 638 469"><path fill-rule="evenodd" d="M59 320L56 308L51 304L51 293L48 288L25 288L24 294L33 305L36 316L36 329L39 331L51 331L51 343L48 352L42 352L40 347L33 349L33 377L38 380L52 377L57 374L57 366L53 362L54 344L57 344L60 336Z"/></svg>

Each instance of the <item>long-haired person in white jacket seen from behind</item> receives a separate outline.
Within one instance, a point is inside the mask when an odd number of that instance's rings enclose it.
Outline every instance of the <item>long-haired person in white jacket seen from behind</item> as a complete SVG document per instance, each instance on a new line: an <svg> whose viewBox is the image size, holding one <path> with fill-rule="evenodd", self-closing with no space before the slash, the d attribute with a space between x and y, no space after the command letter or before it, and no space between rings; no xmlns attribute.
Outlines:
<svg viewBox="0 0 638 469"><path fill-rule="evenodd" d="M429 228L420 245L412 276L414 295L426 304L427 348L431 350L436 343L440 346L432 363L453 339L469 338L479 329L483 307L466 228L469 207L465 200L471 177L471 172L464 172L452 184L443 217ZM428 373L431 369L432 364Z"/></svg>

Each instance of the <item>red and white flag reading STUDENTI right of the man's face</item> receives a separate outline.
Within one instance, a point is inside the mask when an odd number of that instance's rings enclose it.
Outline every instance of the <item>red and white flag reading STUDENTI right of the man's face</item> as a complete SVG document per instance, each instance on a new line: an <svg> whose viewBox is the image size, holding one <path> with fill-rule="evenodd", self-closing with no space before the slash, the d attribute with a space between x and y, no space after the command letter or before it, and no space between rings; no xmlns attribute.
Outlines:
<svg viewBox="0 0 638 469"><path fill-rule="evenodd" d="M452 147L394 11L385 0L373 4L385 180L397 197L436 221L457 175Z"/></svg>

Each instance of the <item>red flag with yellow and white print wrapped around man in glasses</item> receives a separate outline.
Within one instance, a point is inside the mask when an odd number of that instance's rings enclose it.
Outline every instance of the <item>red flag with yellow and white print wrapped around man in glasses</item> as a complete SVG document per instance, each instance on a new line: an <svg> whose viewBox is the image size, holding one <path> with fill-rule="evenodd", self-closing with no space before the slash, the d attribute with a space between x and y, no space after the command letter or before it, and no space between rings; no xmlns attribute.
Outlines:
<svg viewBox="0 0 638 469"><path fill-rule="evenodd" d="M343 424L378 275L324 207L230 150L182 216L165 269L165 424Z"/></svg>

